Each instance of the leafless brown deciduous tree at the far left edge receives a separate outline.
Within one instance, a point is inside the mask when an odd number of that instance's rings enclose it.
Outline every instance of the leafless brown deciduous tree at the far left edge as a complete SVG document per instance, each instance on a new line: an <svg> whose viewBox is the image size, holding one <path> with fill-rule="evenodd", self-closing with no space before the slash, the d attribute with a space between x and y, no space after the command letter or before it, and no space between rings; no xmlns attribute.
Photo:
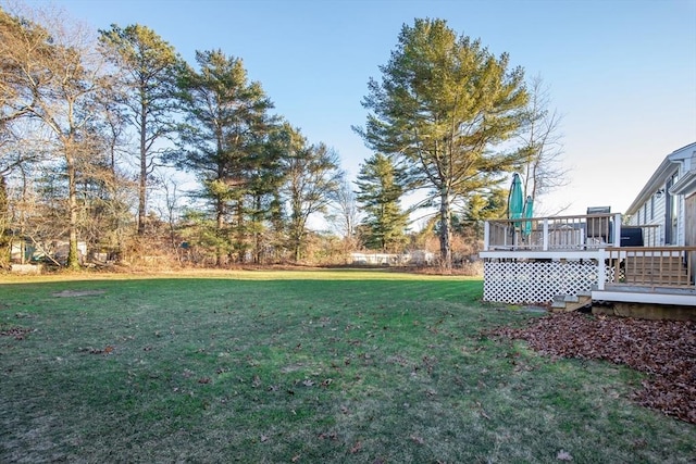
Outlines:
<svg viewBox="0 0 696 464"><path fill-rule="evenodd" d="M20 20L22 18L22 20ZM94 154L90 124L94 100L102 88L103 61L86 26L55 11L21 11L3 16L11 22L13 47L3 49L3 66L14 70L17 93L9 112L25 113L47 129L46 143L61 159L67 179L67 266L77 267L79 206L78 166Z"/></svg>

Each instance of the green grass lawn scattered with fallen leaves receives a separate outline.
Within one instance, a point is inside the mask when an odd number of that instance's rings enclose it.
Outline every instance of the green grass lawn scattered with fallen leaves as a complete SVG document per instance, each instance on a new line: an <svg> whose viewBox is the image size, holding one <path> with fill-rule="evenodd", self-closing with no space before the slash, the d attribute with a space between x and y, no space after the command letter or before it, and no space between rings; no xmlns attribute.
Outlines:
<svg viewBox="0 0 696 464"><path fill-rule="evenodd" d="M389 272L7 277L0 462L694 462L643 376L482 330L538 314ZM27 331L28 330L28 331Z"/></svg>

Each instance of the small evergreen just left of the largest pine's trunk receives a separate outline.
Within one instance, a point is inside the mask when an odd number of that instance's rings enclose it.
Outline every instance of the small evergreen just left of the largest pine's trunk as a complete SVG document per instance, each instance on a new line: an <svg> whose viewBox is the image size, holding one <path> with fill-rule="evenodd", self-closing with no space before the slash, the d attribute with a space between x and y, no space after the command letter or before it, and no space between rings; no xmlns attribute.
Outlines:
<svg viewBox="0 0 696 464"><path fill-rule="evenodd" d="M402 184L402 170L382 153L375 153L360 167L356 185L358 202L365 213L365 247L394 252L406 243L408 213L400 206Z"/></svg>

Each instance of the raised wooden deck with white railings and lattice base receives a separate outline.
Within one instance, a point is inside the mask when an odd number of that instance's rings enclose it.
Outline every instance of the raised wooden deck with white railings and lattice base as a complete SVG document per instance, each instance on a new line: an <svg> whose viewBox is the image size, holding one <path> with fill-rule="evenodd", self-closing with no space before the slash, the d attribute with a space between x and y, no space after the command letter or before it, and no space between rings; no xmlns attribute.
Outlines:
<svg viewBox="0 0 696 464"><path fill-rule="evenodd" d="M484 299L534 304L586 293L599 301L696 306L696 247L663 246L659 226L626 227L621 220L486 222Z"/></svg>

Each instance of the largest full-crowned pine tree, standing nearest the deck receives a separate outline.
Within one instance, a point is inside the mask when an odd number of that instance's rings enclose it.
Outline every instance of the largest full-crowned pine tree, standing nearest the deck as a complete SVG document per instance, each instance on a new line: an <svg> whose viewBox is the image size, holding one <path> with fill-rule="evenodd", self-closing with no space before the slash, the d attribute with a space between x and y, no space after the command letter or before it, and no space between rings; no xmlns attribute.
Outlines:
<svg viewBox="0 0 696 464"><path fill-rule="evenodd" d="M452 203L490 187L518 154L495 153L524 120L527 93L522 68L493 55L480 40L457 36L443 20L405 25L382 80L371 79L356 128L375 152L400 156L410 175L439 204L440 258L451 267Z"/></svg>

